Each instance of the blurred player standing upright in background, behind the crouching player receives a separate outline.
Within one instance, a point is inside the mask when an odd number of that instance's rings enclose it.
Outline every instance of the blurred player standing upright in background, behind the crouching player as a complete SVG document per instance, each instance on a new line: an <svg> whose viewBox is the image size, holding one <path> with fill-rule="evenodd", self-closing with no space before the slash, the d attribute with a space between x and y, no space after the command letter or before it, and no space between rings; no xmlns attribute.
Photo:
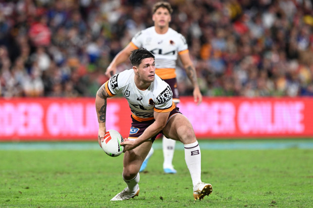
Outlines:
<svg viewBox="0 0 313 208"><path fill-rule="evenodd" d="M188 78L194 87L194 101L200 104L202 95L197 83L195 68L189 57L187 42L183 35L169 27L172 12L173 10L169 3L156 3L152 9L154 26L140 31L132 38L131 42L115 56L107 68L106 75L110 77L111 73L115 74L117 66L128 59L132 50L146 48L155 56L156 75L169 84L173 92L173 101L177 104L179 103L179 95L175 68L179 56ZM163 169L165 173L176 173L172 164L174 149L175 140L163 136ZM140 172L145 169L147 161L152 154L153 149L151 148L151 151L141 166Z"/></svg>

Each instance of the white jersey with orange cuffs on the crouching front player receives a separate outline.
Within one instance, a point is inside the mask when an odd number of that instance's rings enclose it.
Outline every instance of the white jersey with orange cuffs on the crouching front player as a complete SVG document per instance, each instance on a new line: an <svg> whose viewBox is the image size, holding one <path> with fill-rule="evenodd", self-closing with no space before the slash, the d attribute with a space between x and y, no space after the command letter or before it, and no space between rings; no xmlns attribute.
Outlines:
<svg viewBox="0 0 313 208"><path fill-rule="evenodd" d="M154 111L170 112L175 108L172 90L160 77L155 75L148 89L139 90L134 76L132 69L125 70L112 76L105 84L110 96L122 94L127 99L133 118L138 121L151 120Z"/></svg>

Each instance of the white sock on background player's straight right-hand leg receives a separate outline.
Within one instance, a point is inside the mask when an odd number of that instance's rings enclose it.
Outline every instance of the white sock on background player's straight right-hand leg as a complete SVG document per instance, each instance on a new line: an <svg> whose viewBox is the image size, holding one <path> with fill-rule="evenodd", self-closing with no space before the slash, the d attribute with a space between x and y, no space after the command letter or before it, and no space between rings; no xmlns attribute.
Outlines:
<svg viewBox="0 0 313 208"><path fill-rule="evenodd" d="M175 140L171 140L163 136L162 144L163 144L163 169L170 168L173 169L173 156L175 150Z"/></svg>

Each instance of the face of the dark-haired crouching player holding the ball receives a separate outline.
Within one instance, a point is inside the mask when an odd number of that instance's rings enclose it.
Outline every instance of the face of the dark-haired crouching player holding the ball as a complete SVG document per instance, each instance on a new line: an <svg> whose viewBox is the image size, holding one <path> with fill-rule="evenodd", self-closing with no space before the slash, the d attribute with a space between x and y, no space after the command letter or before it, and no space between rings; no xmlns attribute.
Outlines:
<svg viewBox="0 0 313 208"><path fill-rule="evenodd" d="M140 65L136 67L138 77L142 82L151 83L154 81L155 61L153 58L142 59Z"/></svg>

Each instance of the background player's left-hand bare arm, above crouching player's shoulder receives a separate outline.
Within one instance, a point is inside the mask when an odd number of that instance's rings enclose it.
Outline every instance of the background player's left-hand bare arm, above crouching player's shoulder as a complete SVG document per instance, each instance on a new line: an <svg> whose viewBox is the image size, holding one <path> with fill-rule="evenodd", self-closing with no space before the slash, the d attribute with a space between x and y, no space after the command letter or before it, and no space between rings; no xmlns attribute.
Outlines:
<svg viewBox="0 0 313 208"><path fill-rule="evenodd" d="M134 49L136 49L136 48L134 48L134 46L131 43L129 43L123 50L121 50L114 57L114 59L112 60L112 62L108 66L105 75L107 77L111 77L112 75L114 75L116 73L117 66L119 64L125 62L129 58L131 51L133 51Z"/></svg>

